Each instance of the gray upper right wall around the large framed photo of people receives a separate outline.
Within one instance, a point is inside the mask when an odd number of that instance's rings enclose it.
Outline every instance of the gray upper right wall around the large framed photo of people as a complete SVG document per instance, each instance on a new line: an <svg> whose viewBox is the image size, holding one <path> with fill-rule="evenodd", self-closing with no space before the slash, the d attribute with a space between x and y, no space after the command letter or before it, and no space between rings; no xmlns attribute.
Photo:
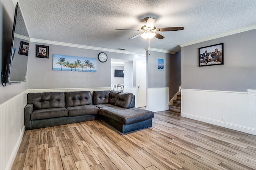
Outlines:
<svg viewBox="0 0 256 170"><path fill-rule="evenodd" d="M198 48L224 43L224 65L198 67ZM182 47L182 88L256 89L256 29Z"/></svg>

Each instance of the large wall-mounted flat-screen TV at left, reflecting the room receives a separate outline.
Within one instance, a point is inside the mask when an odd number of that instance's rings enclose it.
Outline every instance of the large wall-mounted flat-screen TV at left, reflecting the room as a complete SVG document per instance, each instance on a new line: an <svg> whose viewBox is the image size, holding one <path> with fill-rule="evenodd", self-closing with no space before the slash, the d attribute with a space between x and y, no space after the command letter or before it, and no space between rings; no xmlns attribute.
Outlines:
<svg viewBox="0 0 256 170"><path fill-rule="evenodd" d="M8 47L6 54L2 83L12 84L26 81L29 41L30 37L17 3L12 29L12 44Z"/></svg>

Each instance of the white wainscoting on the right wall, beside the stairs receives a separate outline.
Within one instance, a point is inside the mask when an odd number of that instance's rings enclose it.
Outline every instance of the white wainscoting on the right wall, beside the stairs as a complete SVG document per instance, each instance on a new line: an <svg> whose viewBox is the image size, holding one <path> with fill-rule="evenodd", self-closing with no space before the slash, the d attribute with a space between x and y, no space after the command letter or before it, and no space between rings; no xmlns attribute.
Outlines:
<svg viewBox="0 0 256 170"><path fill-rule="evenodd" d="M256 96L182 89L181 116L256 135Z"/></svg>

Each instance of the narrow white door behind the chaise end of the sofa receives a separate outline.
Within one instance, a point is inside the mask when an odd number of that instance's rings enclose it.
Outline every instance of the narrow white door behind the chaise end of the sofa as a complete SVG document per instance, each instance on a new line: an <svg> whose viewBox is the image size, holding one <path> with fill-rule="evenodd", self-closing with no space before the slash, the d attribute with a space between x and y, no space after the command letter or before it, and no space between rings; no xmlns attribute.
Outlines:
<svg viewBox="0 0 256 170"><path fill-rule="evenodd" d="M137 61L136 63L136 82L137 82L138 107L146 107L147 105L146 61Z"/></svg>

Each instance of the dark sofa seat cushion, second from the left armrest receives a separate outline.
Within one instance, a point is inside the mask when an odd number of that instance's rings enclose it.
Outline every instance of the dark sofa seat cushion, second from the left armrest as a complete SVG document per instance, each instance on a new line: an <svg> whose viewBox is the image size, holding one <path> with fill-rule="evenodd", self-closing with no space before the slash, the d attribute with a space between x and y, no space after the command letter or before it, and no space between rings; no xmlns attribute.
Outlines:
<svg viewBox="0 0 256 170"><path fill-rule="evenodd" d="M81 115L94 115L98 113L99 108L92 104L84 106L67 107L68 117L81 116Z"/></svg>

